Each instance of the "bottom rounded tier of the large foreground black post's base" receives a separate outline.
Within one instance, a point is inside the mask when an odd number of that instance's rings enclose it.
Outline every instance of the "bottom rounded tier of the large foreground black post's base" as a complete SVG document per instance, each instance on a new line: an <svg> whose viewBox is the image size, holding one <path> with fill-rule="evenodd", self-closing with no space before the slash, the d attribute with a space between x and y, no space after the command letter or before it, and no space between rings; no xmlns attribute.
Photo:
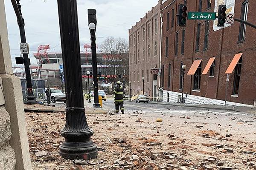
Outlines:
<svg viewBox="0 0 256 170"><path fill-rule="evenodd" d="M97 158L97 146L89 140L87 142L63 142L60 149L60 155L64 159L96 159Z"/></svg>

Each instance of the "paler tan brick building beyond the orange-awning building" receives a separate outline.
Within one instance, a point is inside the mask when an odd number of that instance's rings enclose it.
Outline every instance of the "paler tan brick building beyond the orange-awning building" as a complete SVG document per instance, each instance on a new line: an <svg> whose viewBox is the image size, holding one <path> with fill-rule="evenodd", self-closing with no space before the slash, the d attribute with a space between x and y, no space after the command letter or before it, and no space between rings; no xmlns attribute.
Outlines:
<svg viewBox="0 0 256 170"><path fill-rule="evenodd" d="M129 70L131 95L144 94L156 100L160 77L151 74L160 66L160 6L152 7L136 25L129 29Z"/></svg>

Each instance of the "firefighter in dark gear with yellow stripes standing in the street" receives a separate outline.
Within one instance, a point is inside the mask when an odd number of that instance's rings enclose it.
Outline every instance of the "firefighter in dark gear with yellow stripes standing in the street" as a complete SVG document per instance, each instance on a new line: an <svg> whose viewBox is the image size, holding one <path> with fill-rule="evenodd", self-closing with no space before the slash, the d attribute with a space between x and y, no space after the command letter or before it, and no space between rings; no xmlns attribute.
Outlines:
<svg viewBox="0 0 256 170"><path fill-rule="evenodd" d="M115 113L119 113L119 107L120 107L122 114L124 114L125 109L124 109L124 99L123 99L123 88L121 86L120 81L116 82L116 84L117 84L117 86L116 86L115 90L113 91L113 94L115 95L114 104L116 105Z"/></svg>

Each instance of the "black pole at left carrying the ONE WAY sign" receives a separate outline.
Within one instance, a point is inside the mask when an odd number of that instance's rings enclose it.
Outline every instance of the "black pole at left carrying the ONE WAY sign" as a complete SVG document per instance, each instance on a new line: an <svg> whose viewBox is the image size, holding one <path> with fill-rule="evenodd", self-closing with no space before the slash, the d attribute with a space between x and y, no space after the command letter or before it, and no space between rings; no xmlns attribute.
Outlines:
<svg viewBox="0 0 256 170"><path fill-rule="evenodd" d="M26 35L25 35L25 22L21 14L21 5L20 5L20 0L12 0L12 6L14 8L15 14L17 16L17 21L18 21L18 26L20 28L20 40L22 43L26 43ZM32 89L32 83L31 83L31 74L30 74L30 60L28 57L28 54L23 54L23 62L24 62L24 67L25 67L25 74L26 74L26 83L27 83L27 96L26 96L26 103L29 105L36 104L36 99L33 94L33 89Z"/></svg>

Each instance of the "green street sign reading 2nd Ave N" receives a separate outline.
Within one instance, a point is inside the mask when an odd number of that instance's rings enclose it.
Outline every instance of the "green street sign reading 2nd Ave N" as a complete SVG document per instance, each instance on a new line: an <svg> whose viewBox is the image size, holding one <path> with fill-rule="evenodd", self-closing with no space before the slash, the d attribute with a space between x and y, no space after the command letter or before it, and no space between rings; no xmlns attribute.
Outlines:
<svg viewBox="0 0 256 170"><path fill-rule="evenodd" d="M216 12L188 12L188 20L215 20Z"/></svg>

